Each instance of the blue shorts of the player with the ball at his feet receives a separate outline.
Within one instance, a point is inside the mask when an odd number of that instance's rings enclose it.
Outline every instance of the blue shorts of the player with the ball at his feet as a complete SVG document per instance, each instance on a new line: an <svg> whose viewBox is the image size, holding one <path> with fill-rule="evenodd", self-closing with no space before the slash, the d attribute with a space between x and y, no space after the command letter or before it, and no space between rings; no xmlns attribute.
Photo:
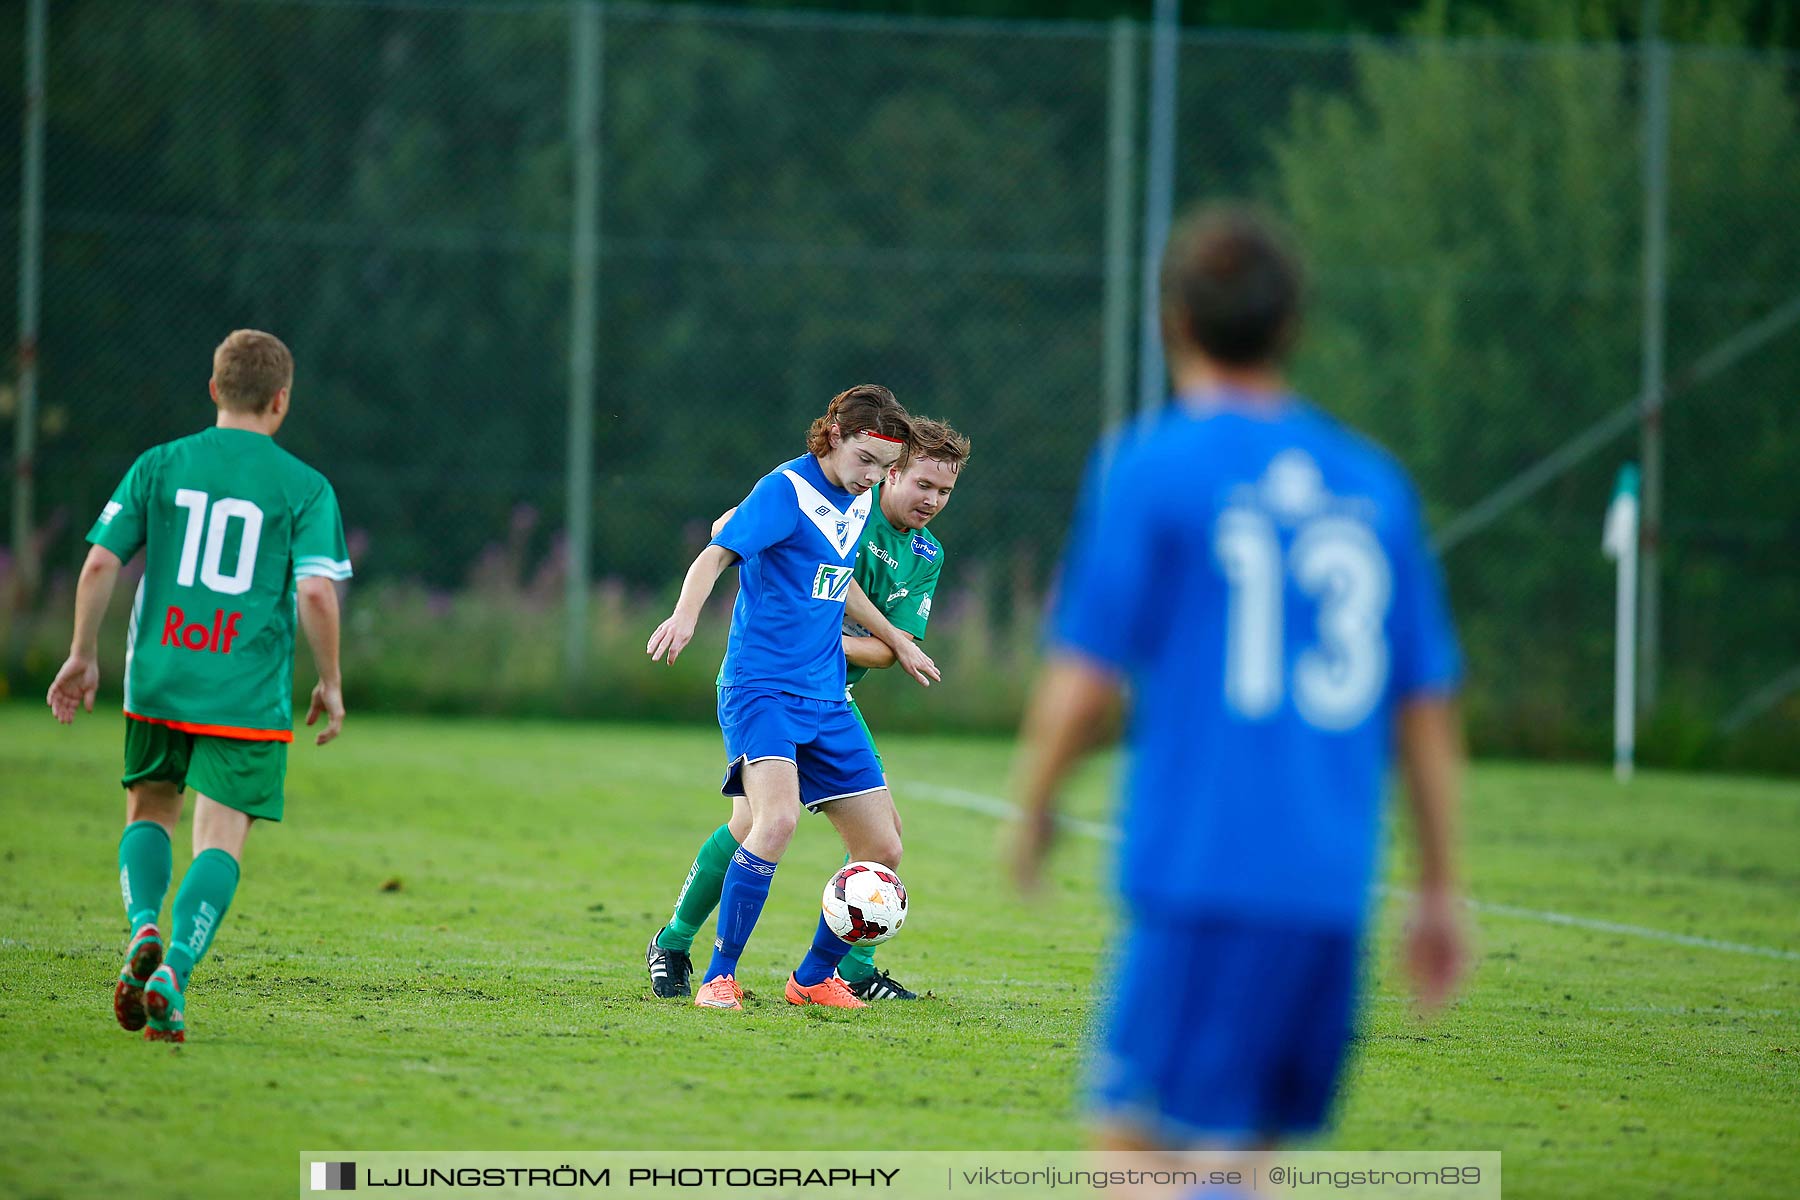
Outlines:
<svg viewBox="0 0 1800 1200"><path fill-rule="evenodd" d="M743 768L787 759L799 770L799 801L821 804L887 786L880 759L848 700L814 700L767 687L720 687L718 729L725 734L724 795L743 795Z"/></svg>

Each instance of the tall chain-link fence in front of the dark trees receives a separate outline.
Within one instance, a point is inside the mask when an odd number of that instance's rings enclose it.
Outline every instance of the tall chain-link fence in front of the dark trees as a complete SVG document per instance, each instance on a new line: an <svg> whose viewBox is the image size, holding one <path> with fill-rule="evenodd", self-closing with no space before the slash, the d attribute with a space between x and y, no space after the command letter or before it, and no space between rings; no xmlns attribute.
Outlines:
<svg viewBox="0 0 1800 1200"><path fill-rule="evenodd" d="M1121 394L1109 336L1136 344L1143 29L589 13L54 5L47 585L14 608L14 646L58 648L88 520L135 453L207 423L212 345L257 326L301 363L283 441L355 531L353 666L358 633L382 642L360 651L383 684L365 702L463 703L461 664L491 707L648 712L686 689L704 712L704 673L675 687L628 664L641 615L824 401L875 380L974 437L940 524L965 599L940 606L938 644L965 716L1006 720ZM0 74L18 77L7 20ZM599 63L590 212L572 201L576 38ZM1642 54L1188 34L1179 67L1177 201L1255 196L1296 225L1316 277L1298 380L1408 462L1440 525L1638 394ZM1683 383L1800 293L1796 83L1786 58L1670 54L1661 694L1690 743L1800 662L1800 327ZM583 227L598 317L572 331ZM594 664L571 696L556 630L583 338ZM1606 745L1600 513L1636 455L1627 428L1449 549L1487 745ZM16 658L14 687L47 657ZM934 691L922 712L956 703ZM1741 723L1800 739L1793 707Z"/></svg>

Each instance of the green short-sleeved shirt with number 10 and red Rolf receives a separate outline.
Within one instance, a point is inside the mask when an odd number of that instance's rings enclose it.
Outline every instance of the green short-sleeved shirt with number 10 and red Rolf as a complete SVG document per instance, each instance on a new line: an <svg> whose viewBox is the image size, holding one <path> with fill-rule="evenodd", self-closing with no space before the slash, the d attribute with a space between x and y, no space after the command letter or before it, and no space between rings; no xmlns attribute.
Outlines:
<svg viewBox="0 0 1800 1200"><path fill-rule="evenodd" d="M144 549L124 711L218 738L293 739L295 579L349 579L326 477L248 430L211 428L131 464L88 542Z"/></svg>

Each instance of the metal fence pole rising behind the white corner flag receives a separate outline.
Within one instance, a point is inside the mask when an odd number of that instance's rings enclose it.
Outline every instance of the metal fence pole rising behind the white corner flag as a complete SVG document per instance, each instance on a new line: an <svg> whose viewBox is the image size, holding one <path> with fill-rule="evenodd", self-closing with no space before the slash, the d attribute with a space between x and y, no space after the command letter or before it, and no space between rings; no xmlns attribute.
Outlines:
<svg viewBox="0 0 1800 1200"><path fill-rule="evenodd" d="M1669 245L1669 47L1660 0L1643 4L1643 540L1638 563L1638 707L1656 703L1661 644L1663 309Z"/></svg>

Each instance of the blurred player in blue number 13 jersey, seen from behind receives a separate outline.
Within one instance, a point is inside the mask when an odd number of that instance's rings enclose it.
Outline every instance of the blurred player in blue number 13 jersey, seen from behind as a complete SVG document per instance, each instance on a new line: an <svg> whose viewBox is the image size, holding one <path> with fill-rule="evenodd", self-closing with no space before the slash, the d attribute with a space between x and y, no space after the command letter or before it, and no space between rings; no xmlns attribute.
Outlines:
<svg viewBox="0 0 1800 1200"><path fill-rule="evenodd" d="M1456 639L1406 473L1282 381L1300 288L1247 212L1204 212L1172 239L1175 399L1096 459L1026 718L1030 887L1062 777L1130 694L1125 945L1091 1092L1109 1150L1253 1148L1325 1124L1390 747L1418 835L1408 952L1426 1006L1463 959Z"/></svg>

